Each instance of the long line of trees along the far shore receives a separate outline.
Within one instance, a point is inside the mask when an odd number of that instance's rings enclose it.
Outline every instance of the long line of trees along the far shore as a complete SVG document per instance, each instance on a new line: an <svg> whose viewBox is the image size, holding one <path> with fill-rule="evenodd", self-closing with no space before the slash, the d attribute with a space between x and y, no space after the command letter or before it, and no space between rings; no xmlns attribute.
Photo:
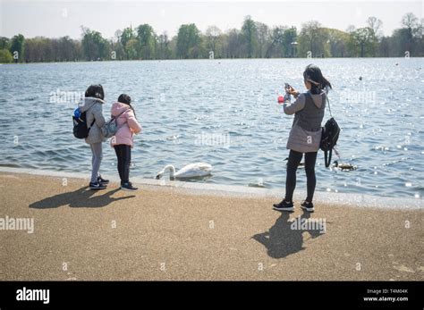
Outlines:
<svg viewBox="0 0 424 310"><path fill-rule="evenodd" d="M81 39L0 37L0 63L77 62L201 58L399 57L424 56L422 20L407 13L401 27L383 36L383 22L371 16L367 26L330 29L308 21L298 30L253 21L241 29L222 31L210 26L202 33L183 24L174 38L157 34L148 24L116 30L114 38L81 26Z"/></svg>

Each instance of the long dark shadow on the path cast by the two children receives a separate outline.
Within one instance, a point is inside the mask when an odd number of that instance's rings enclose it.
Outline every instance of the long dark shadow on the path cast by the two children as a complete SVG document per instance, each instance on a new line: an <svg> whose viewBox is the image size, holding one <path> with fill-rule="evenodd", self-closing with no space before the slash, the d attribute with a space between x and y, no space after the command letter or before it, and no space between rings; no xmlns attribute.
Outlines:
<svg viewBox="0 0 424 310"><path fill-rule="evenodd" d="M62 205L69 205L71 207L85 207L85 208L97 208L109 205L114 201L128 199L135 196L126 197L111 197L119 189L112 189L109 191L102 190L103 195L93 196L96 191L90 190L88 187L82 187L81 189L74 190L72 192L58 194L52 197L47 197L39 200L35 203L30 204L30 208L35 209L49 209L57 208Z"/></svg>

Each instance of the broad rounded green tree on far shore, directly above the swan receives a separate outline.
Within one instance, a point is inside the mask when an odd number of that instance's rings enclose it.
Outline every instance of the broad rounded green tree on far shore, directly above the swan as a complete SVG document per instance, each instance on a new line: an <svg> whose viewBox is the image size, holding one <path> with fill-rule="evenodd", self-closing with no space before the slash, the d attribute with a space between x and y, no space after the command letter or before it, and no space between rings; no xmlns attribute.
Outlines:
<svg viewBox="0 0 424 310"><path fill-rule="evenodd" d="M178 58L199 58L201 55L200 31L195 24L181 25L178 29L176 54Z"/></svg>

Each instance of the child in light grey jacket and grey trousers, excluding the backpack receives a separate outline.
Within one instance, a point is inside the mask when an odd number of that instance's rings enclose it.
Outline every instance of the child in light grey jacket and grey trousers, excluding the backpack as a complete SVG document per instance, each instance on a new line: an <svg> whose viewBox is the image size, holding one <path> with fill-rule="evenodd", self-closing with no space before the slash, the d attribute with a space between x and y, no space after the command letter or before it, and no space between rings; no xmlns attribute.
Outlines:
<svg viewBox="0 0 424 310"><path fill-rule="evenodd" d="M90 85L80 105L81 113L86 112L87 126L89 127L89 137L85 138L85 141L89 144L92 153L90 189L106 189L106 185L109 183L109 180L103 179L100 175L100 163L103 158L102 143L106 140L102 133L106 122L102 108L105 104L104 98L105 93L101 85Z"/></svg>

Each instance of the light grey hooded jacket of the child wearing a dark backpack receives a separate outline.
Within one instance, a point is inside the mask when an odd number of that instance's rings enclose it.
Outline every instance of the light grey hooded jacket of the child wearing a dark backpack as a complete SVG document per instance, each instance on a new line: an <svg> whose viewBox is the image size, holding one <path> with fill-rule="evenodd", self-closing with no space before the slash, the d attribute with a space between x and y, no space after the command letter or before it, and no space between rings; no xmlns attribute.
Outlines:
<svg viewBox="0 0 424 310"><path fill-rule="evenodd" d="M88 144L99 143L106 141L103 136L102 128L105 126L105 118L103 117L102 105L105 102L98 98L87 97L84 98L80 104L80 111L87 112L87 126L89 127L89 137L85 138ZM94 120L93 126L90 127Z"/></svg>

